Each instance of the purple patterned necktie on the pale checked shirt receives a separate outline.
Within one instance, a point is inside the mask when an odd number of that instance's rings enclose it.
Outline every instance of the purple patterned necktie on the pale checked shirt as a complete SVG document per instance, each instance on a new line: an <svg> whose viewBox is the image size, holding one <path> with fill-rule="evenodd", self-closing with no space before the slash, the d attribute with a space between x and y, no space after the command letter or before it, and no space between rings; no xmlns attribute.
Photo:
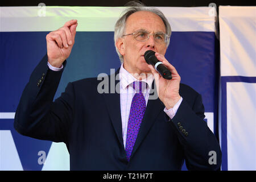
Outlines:
<svg viewBox="0 0 256 182"><path fill-rule="evenodd" d="M146 84L146 82L143 82ZM139 93L138 93L139 85ZM146 100L142 93L142 82L133 82L133 88L137 91L131 101L130 116L127 126L127 138L126 138L126 156L127 160L130 161L131 151L133 151L133 146L137 135L139 133L139 127L141 126L142 118L146 110Z"/></svg>

